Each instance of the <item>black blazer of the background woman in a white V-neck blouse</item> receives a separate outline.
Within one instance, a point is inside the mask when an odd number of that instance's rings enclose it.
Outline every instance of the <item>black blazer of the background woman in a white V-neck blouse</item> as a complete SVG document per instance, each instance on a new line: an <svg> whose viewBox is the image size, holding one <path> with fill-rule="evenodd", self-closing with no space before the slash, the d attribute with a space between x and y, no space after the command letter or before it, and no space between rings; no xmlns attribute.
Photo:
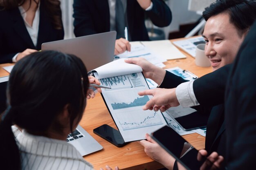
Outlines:
<svg viewBox="0 0 256 170"><path fill-rule="evenodd" d="M61 15L61 14L60 14ZM25 49L41 49L44 42L62 40L64 31L53 28L43 3L40 4L40 21L37 45L34 46L24 20L17 8L0 10L0 63L12 62L16 53Z"/></svg>

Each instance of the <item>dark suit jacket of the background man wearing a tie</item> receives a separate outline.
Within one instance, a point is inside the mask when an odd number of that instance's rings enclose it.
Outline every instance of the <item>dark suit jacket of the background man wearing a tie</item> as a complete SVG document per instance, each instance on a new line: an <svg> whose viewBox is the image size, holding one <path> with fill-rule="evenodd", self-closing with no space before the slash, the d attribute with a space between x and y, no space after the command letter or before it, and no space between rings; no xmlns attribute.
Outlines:
<svg viewBox="0 0 256 170"><path fill-rule="evenodd" d="M145 13L156 26L168 26L172 15L163 0L152 0L153 9L145 11L137 0L127 0L130 41L148 41ZM74 0L74 33L76 37L110 31L108 0Z"/></svg>

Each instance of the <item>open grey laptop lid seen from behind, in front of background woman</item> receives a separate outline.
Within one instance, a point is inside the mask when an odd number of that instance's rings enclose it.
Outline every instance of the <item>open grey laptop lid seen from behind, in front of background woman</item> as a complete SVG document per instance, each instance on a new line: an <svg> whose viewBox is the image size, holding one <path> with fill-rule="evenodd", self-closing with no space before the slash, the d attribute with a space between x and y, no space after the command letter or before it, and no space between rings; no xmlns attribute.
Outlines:
<svg viewBox="0 0 256 170"><path fill-rule="evenodd" d="M114 60L116 31L43 43L42 51L56 50L81 58L87 71Z"/></svg>

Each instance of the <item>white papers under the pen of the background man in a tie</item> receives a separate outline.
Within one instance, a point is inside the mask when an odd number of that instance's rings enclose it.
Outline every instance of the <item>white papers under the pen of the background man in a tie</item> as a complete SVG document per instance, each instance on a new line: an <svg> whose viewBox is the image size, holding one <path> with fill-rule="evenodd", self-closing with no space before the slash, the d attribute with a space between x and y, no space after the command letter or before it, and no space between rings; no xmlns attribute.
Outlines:
<svg viewBox="0 0 256 170"><path fill-rule="evenodd" d="M165 59L159 56L157 57L157 55L155 55L149 48L145 47L143 44L140 44L138 42L136 42L135 44L136 45L131 43L131 51L121 53L116 57L119 57L119 58L143 57L156 66L160 66L161 68L165 66L163 64L163 62L166 62Z"/></svg>

